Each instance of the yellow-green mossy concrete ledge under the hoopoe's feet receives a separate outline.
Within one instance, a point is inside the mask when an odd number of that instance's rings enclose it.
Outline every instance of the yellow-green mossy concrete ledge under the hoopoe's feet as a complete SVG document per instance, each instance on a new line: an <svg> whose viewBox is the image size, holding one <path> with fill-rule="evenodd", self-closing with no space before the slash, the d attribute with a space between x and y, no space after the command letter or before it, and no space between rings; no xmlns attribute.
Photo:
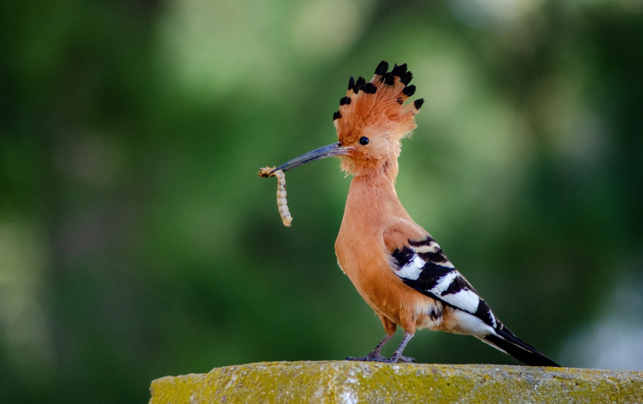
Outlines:
<svg viewBox="0 0 643 404"><path fill-rule="evenodd" d="M262 362L152 382L165 403L643 403L643 372L507 365Z"/></svg>

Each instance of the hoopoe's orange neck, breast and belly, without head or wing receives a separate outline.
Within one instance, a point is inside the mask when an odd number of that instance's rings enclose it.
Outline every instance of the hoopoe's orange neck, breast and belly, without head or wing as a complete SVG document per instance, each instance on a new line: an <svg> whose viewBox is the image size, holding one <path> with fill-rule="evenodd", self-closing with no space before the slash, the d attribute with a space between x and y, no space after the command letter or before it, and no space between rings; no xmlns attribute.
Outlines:
<svg viewBox="0 0 643 404"><path fill-rule="evenodd" d="M393 235L385 240L385 233ZM424 234L397 199L394 182L384 171L353 178L335 242L338 262L378 316L412 333L416 327L438 326L441 316L431 319L430 314L441 314L442 305L395 275L390 249Z"/></svg>

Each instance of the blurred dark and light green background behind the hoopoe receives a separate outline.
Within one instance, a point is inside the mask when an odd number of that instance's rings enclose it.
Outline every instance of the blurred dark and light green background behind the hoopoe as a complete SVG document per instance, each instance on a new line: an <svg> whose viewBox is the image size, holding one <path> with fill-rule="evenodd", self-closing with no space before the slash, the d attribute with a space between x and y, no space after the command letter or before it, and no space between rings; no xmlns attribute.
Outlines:
<svg viewBox="0 0 643 404"><path fill-rule="evenodd" d="M8 0L0 401L141 403L165 375L341 360L383 337L334 255L349 76L426 104L404 205L519 337L643 370L639 0ZM387 347L390 354L400 335ZM517 364L424 331L419 362Z"/></svg>

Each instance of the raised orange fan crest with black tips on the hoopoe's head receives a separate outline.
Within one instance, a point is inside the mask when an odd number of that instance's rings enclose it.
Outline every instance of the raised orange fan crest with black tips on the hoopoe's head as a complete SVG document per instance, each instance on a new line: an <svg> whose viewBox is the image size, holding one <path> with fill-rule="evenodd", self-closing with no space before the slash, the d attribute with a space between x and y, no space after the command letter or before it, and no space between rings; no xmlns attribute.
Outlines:
<svg viewBox="0 0 643 404"><path fill-rule="evenodd" d="M349 90L340 99L340 110L333 115L335 128L340 139L350 142L351 135L361 136L365 128L385 132L388 136L402 139L415 129L415 114L423 99L404 105L415 93L415 86L409 85L413 74L406 70L406 63L394 65L388 71L388 63L377 65L375 75L367 82L363 77L350 78Z"/></svg>

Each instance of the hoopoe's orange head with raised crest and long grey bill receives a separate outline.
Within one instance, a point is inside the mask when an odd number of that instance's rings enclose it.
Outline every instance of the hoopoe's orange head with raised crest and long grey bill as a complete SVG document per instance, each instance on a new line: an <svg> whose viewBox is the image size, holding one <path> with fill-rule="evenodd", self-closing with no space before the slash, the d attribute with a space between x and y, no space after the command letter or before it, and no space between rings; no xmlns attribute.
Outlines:
<svg viewBox="0 0 643 404"><path fill-rule="evenodd" d="M406 64L395 65L388 72L388 63L377 66L372 80L359 77L349 80L349 90L340 99L340 110L333 115L338 142L305 153L275 170L287 171L320 158L340 156L341 168L354 176L383 171L397 176L400 140L415 129L415 114L422 99L405 102L415 92L409 85L413 74Z"/></svg>

